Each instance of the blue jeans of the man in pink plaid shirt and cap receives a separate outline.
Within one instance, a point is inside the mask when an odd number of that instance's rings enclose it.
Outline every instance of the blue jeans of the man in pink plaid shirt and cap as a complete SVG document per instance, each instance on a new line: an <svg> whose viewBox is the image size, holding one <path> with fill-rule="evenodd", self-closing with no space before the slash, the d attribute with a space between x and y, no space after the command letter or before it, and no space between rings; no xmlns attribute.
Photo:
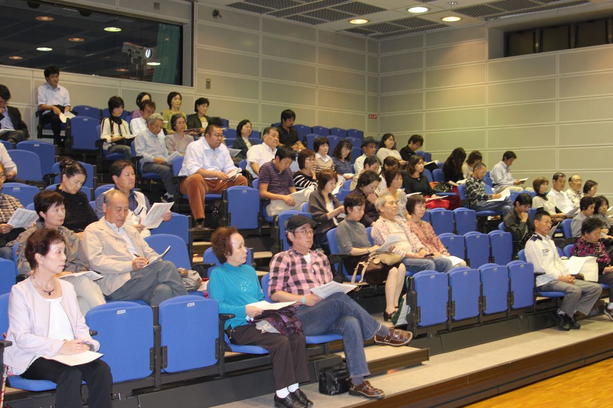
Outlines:
<svg viewBox="0 0 613 408"><path fill-rule="evenodd" d="M364 355L364 340L375 336L379 322L348 295L337 292L313 306L299 306L296 317L302 321L305 336L326 333L343 336L343 349L351 378L370 374Z"/></svg>

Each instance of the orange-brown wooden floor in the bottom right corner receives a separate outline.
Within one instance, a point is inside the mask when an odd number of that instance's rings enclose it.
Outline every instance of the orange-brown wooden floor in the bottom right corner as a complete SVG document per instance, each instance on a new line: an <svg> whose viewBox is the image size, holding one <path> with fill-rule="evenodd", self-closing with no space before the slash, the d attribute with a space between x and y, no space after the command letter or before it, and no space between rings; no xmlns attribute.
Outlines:
<svg viewBox="0 0 613 408"><path fill-rule="evenodd" d="M613 358L484 399L467 408L598 407L611 396ZM585 392L581 392L584 390Z"/></svg>

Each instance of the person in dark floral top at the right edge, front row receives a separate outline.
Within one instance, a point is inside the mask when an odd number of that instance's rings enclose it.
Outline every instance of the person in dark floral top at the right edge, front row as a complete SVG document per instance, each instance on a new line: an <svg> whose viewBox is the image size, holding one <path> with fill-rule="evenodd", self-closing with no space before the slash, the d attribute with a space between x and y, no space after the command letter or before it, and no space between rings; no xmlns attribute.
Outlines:
<svg viewBox="0 0 613 408"><path fill-rule="evenodd" d="M611 254L607 252L601 239L603 224L598 218L587 218L581 224L581 238L575 243L572 256L593 256L598 264L598 283L613 284L613 264ZM604 308L604 314L613 320L613 302Z"/></svg>

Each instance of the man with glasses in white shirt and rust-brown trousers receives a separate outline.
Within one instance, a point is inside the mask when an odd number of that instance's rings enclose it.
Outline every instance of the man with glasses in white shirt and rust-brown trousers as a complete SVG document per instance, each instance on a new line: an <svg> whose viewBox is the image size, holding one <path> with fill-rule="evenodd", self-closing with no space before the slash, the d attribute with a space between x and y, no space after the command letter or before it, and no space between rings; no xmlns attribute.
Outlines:
<svg viewBox="0 0 613 408"><path fill-rule="evenodd" d="M234 165L230 152L223 143L223 123L219 117L211 117L204 131L204 138L188 144L185 160L179 176L179 191L187 194L189 209L196 220L196 228L204 228L204 199L207 193L221 194L235 185L247 185L245 176Z"/></svg>

